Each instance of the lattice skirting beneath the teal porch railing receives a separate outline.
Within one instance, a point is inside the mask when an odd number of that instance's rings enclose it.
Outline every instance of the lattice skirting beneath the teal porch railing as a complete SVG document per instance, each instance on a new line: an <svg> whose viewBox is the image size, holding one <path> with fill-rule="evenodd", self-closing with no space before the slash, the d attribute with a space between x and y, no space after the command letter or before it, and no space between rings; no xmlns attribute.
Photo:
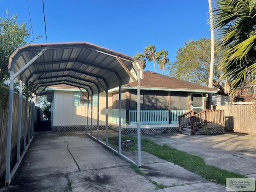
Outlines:
<svg viewBox="0 0 256 192"><path fill-rule="evenodd" d="M112 130L118 131L118 126L112 125ZM122 128L122 134L135 135L137 128ZM156 134L156 133L178 133L178 127L158 127L158 128L141 128L140 134Z"/></svg>

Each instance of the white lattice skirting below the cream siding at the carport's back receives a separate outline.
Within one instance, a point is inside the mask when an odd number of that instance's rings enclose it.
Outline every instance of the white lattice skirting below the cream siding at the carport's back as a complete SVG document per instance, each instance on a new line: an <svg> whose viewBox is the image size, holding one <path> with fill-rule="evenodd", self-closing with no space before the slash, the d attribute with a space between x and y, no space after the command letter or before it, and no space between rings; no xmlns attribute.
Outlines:
<svg viewBox="0 0 256 192"><path fill-rule="evenodd" d="M108 129L111 128L111 125L108 125ZM88 126L88 130L91 129L91 126ZM99 130L106 130L106 125L99 125ZM97 125L92 125L92 130L97 130ZM63 125L63 126L52 126L52 132L61 132L61 131L86 131L86 126L84 125Z"/></svg>

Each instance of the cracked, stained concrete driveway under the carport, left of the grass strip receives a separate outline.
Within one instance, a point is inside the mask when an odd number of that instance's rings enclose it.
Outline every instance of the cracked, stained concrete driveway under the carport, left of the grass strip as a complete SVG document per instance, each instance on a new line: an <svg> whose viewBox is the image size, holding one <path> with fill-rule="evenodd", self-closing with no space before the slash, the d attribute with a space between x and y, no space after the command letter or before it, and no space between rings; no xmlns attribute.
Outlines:
<svg viewBox="0 0 256 192"><path fill-rule="evenodd" d="M114 134L110 132L110 136ZM151 138L157 136L170 140L180 135L151 135ZM136 152L123 154L136 158ZM41 132L35 134L10 186L0 188L0 192L226 191L224 186L146 152L142 152L142 164L145 176L84 132ZM170 187L156 190L152 182Z"/></svg>

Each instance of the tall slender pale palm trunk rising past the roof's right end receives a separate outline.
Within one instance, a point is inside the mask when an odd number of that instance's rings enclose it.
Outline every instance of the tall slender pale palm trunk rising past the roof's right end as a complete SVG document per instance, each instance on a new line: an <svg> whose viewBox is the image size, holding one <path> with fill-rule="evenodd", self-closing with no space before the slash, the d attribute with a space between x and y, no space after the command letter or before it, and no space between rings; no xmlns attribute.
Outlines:
<svg viewBox="0 0 256 192"><path fill-rule="evenodd" d="M209 3L209 14L210 14L210 28L211 28L211 61L210 61L210 74L208 87L212 88L213 84L213 68L214 68L214 26L212 18L212 0L208 0ZM209 107L212 108L212 94L209 94Z"/></svg>

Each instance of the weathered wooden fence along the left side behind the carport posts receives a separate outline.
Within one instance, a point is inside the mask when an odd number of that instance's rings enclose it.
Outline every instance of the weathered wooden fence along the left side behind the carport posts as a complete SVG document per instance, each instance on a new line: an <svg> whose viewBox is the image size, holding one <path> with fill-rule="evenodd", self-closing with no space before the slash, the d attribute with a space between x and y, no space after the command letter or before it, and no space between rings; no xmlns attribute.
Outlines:
<svg viewBox="0 0 256 192"><path fill-rule="evenodd" d="M14 94L13 100L13 117L12 117L12 144L11 144L11 170L16 164L17 156L17 142L18 142L18 106L19 106L19 95ZM27 129L29 127L30 121L30 108L33 108L32 103L28 102L28 114L25 115L25 99L22 99L22 127L21 127L21 140L20 140L20 154L24 150L24 124L25 117L28 117L27 120ZM0 183L4 181L5 177L5 168L6 168L6 142L7 142L7 131L8 131L8 108L0 108ZM27 142L28 144L30 136L27 131Z"/></svg>

